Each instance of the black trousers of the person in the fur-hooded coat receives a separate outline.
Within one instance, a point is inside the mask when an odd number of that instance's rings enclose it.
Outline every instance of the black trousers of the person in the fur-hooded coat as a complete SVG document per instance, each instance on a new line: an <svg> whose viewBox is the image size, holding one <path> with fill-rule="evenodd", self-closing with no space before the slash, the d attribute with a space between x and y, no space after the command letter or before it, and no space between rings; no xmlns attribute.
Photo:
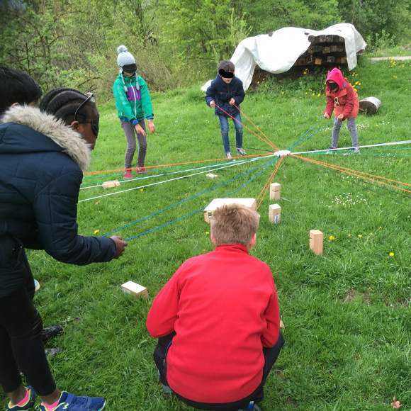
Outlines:
<svg viewBox="0 0 411 411"><path fill-rule="evenodd" d="M22 383L20 371L38 395L55 388L42 340L43 322L34 308L34 280L26 256L26 287L0 298L0 384L6 393ZM1 275L1 274L0 274Z"/></svg>

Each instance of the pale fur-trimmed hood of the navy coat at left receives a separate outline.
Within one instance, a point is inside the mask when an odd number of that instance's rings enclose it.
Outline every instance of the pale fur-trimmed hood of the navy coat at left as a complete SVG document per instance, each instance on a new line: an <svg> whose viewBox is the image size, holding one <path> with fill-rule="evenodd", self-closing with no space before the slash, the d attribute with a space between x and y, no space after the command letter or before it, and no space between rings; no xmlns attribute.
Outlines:
<svg viewBox="0 0 411 411"><path fill-rule="evenodd" d="M26 125L32 130L48 137L55 145L42 139L33 141L33 135L23 133L16 139L0 139L0 152L30 152L33 151L60 151L64 152L82 169L88 169L90 164L91 147L80 133L65 125L55 116L43 113L39 108L31 106L13 106L1 118L2 123Z"/></svg>

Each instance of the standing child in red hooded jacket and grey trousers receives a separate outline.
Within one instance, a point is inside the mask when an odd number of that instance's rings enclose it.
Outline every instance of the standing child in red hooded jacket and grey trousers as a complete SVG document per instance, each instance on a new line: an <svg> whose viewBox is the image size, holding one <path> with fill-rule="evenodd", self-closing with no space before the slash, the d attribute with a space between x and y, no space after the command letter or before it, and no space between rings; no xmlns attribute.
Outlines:
<svg viewBox="0 0 411 411"><path fill-rule="evenodd" d="M330 119L332 111L334 113L334 126L332 128L331 147L327 154L334 153L338 145L339 130L342 122L347 118L347 128L351 134L352 148L350 152L359 153L358 133L355 125L355 118L359 112L359 99L351 84L342 77L342 72L334 68L328 72L325 95L327 96L327 107L324 117Z"/></svg>

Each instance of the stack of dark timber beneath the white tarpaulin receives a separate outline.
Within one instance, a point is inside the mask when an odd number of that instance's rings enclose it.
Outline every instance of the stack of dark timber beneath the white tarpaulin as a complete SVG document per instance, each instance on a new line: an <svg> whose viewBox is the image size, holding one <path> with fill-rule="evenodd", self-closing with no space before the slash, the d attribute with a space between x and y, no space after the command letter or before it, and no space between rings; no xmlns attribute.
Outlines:
<svg viewBox="0 0 411 411"><path fill-rule="evenodd" d="M303 52L294 66L345 64L345 39L339 35L309 35L310 47Z"/></svg>

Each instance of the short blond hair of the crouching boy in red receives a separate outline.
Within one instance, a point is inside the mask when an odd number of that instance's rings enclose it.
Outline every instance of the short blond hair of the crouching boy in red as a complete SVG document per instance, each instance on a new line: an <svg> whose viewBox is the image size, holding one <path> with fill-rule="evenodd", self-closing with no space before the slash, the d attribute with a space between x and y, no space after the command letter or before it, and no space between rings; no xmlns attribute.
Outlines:
<svg viewBox="0 0 411 411"><path fill-rule="evenodd" d="M215 245L242 244L247 247L259 226L259 213L245 205L232 203L218 207L211 218Z"/></svg>

